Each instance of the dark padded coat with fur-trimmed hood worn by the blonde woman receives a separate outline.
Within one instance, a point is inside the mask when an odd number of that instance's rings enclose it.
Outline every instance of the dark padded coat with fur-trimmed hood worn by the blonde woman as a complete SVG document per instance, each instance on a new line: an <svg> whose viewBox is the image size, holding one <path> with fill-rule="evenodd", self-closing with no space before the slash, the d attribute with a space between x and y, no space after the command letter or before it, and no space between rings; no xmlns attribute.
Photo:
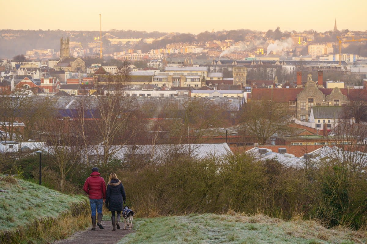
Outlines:
<svg viewBox="0 0 367 244"><path fill-rule="evenodd" d="M126 200L124 186L121 180L113 179L107 184L106 207L109 211L122 211L123 201Z"/></svg>

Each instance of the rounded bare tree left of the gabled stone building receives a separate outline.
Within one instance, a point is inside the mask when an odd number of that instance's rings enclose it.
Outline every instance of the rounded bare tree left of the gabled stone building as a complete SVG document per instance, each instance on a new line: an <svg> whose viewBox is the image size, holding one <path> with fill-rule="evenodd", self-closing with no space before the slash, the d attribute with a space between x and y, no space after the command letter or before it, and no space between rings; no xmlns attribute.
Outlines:
<svg viewBox="0 0 367 244"><path fill-rule="evenodd" d="M266 100L244 104L240 123L247 135L254 136L260 145L275 133L287 132L290 123L286 105Z"/></svg>

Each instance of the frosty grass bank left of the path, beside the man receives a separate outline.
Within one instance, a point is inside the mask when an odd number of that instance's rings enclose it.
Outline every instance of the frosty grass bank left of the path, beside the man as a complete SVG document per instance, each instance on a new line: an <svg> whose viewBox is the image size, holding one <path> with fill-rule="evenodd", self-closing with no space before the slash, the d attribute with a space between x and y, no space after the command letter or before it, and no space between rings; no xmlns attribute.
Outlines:
<svg viewBox="0 0 367 244"><path fill-rule="evenodd" d="M90 222L84 196L0 175L0 243L50 243Z"/></svg>

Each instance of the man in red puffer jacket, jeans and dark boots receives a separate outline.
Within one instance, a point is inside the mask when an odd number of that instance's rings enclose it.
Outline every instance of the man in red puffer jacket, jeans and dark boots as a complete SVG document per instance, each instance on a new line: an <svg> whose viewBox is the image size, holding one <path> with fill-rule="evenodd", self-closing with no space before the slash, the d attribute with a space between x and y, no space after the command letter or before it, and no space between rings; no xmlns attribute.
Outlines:
<svg viewBox="0 0 367 244"><path fill-rule="evenodd" d="M84 183L83 190L89 195L89 203L91 204L92 210L92 230L95 230L95 209L97 208L98 212L98 221L97 225L99 229L103 229L101 224L102 220L102 205L103 199L106 199L106 183L105 180L98 173L98 168L92 168L92 173L90 177L87 178Z"/></svg>

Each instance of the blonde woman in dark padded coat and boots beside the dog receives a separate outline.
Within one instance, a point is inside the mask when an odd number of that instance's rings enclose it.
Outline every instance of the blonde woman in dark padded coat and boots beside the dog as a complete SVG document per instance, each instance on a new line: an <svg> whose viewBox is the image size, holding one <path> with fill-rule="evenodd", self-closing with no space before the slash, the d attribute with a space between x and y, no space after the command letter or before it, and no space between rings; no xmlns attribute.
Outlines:
<svg viewBox="0 0 367 244"><path fill-rule="evenodd" d="M111 211L111 221L112 221L112 230L120 229L120 218L121 211L124 208L124 203L126 200L124 186L121 183L121 180L117 179L115 173L110 174L110 178L107 184L107 192L106 192L106 207L109 211ZM117 222L115 211L117 211Z"/></svg>

